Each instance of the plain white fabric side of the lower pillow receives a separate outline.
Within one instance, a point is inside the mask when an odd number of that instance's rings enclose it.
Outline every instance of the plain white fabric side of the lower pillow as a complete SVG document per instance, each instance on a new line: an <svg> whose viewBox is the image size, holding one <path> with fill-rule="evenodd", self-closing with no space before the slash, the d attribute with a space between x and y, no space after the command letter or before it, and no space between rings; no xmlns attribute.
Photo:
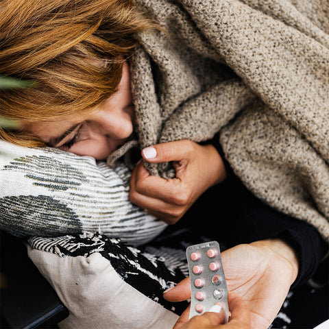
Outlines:
<svg viewBox="0 0 329 329"><path fill-rule="evenodd" d="M125 283L99 253L60 257L28 246L28 254L70 311L61 329L171 329L178 319Z"/></svg>

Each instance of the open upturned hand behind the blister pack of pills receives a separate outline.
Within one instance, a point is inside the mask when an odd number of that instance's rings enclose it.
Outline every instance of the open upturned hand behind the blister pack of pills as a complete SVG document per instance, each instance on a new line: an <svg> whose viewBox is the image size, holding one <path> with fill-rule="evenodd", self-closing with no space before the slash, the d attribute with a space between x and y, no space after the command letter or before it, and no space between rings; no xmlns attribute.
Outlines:
<svg viewBox="0 0 329 329"><path fill-rule="evenodd" d="M298 263L293 249L284 241L269 239L237 245L223 252L221 258L228 290L241 295L247 303L252 328L268 328L297 277ZM164 298L171 302L189 297L189 278L164 293Z"/></svg>

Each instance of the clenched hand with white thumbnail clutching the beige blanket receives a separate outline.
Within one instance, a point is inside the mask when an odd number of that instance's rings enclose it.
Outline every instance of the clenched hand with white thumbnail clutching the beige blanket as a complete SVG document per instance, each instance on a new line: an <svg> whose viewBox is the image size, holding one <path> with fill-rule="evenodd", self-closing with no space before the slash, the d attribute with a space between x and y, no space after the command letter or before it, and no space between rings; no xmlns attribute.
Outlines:
<svg viewBox="0 0 329 329"><path fill-rule="evenodd" d="M212 145L187 140L162 143L143 149L142 156L149 162L173 161L176 177L164 180L149 175L139 162L130 180L130 201L169 224L177 222L204 191L226 177L221 156Z"/></svg>

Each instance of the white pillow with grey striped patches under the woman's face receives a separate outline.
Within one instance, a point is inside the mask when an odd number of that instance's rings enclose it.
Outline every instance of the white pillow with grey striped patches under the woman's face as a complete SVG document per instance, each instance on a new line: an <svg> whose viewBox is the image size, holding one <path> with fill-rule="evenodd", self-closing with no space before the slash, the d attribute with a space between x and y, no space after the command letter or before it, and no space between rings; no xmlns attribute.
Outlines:
<svg viewBox="0 0 329 329"><path fill-rule="evenodd" d="M0 141L0 228L16 236L100 232L132 245L166 224L130 203L130 171L51 147Z"/></svg>

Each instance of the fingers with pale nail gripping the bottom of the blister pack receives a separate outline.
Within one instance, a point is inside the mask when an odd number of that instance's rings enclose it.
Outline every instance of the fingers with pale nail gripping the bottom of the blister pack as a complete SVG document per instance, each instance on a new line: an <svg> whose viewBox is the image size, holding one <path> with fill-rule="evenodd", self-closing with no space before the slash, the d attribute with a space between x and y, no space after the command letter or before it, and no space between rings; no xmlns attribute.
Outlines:
<svg viewBox="0 0 329 329"><path fill-rule="evenodd" d="M225 317L223 310L196 315L188 321L189 308L186 308L173 329L251 329L250 312L243 299L236 293L228 293L228 305L231 312L228 324L221 324Z"/></svg>

